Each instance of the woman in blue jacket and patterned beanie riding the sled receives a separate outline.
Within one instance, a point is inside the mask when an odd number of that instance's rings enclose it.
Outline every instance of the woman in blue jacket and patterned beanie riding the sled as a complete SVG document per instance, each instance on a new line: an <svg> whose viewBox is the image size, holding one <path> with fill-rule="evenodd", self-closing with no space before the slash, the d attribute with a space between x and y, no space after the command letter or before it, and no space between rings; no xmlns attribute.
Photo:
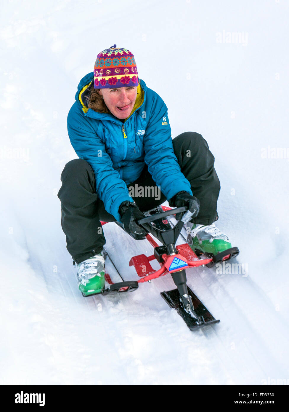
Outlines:
<svg viewBox="0 0 289 412"><path fill-rule="evenodd" d="M100 220L118 220L142 234L136 224L142 211L168 199L194 213L188 236L193 250L216 254L231 247L214 225L220 183L207 142L193 132L172 140L167 106L138 79L129 50L114 44L99 53L75 100L67 126L79 159L65 165L58 197L84 295L101 293L105 285Z"/></svg>

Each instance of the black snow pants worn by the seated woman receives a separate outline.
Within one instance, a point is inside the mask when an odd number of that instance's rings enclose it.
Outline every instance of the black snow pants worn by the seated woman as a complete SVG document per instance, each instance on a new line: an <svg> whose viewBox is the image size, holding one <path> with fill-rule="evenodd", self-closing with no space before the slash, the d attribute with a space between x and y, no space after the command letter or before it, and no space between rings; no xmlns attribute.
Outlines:
<svg viewBox="0 0 289 412"><path fill-rule="evenodd" d="M206 140L195 132L181 133L172 140L172 145L181 171L191 183L193 196L200 201L200 212L193 222L210 225L218 219L217 199L220 190L214 156ZM105 237L100 220L114 222L115 218L107 213L103 201L98 198L95 175L85 160L68 162L61 174L61 182L58 192L61 226L66 235L68 252L75 262L80 263L103 249ZM140 177L127 187L141 211L150 210L169 200L156 187L147 166ZM145 188L149 187L154 187L155 191L146 191ZM140 188L144 188L143 195Z"/></svg>

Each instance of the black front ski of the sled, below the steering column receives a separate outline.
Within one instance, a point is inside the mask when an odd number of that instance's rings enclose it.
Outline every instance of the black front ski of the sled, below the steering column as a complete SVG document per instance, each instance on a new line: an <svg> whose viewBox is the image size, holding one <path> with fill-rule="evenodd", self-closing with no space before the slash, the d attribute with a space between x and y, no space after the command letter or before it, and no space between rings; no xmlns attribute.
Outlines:
<svg viewBox="0 0 289 412"><path fill-rule="evenodd" d="M193 311L198 316L198 318L191 316L189 312L184 310L183 305L180 301L179 291L177 289L169 290L168 292L161 292L161 296L172 309L176 309L177 313L182 317L190 330L196 330L207 325L212 325L213 323L219 323L220 321L216 320L214 316L210 314L210 312L198 299L198 297L192 292L189 286L187 286L187 288L193 303Z"/></svg>

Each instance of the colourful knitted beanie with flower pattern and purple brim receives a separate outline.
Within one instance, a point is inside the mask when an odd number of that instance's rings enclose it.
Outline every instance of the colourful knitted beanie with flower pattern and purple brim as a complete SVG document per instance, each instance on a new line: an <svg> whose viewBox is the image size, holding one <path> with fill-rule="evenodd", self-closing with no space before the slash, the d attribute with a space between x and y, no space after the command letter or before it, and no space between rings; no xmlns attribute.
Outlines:
<svg viewBox="0 0 289 412"><path fill-rule="evenodd" d="M108 89L138 86L138 70L133 54L114 44L97 55L94 88Z"/></svg>

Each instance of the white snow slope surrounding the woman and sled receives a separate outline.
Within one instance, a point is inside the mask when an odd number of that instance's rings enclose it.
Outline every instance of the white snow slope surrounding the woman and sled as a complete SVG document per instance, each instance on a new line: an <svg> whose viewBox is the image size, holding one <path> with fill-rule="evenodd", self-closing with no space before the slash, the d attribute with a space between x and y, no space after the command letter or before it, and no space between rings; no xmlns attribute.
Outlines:
<svg viewBox="0 0 289 412"><path fill-rule="evenodd" d="M288 379L289 157L274 157L289 150L288 2L1 6L0 384ZM218 325L191 332L160 296L174 288L169 276L128 295L84 299L78 290L57 197L77 157L66 117L79 80L114 43L133 52L140 78L165 101L172 135L201 133L215 156L217 227L247 268L188 271ZM152 248L115 226L104 227L107 250L125 279L137 279L128 261Z"/></svg>

